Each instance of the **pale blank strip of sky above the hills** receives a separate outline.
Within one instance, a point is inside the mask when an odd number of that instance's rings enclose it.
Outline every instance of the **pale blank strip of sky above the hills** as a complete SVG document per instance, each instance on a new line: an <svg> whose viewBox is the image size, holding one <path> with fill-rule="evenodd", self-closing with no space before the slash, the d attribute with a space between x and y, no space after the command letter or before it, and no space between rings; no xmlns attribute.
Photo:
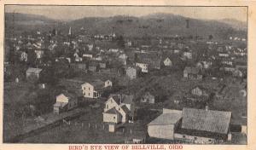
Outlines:
<svg viewBox="0 0 256 150"><path fill-rule="evenodd" d="M142 16L154 13L180 14L195 19L247 21L247 7L121 7L121 6L25 6L6 5L5 12L41 14L57 20L113 15Z"/></svg>

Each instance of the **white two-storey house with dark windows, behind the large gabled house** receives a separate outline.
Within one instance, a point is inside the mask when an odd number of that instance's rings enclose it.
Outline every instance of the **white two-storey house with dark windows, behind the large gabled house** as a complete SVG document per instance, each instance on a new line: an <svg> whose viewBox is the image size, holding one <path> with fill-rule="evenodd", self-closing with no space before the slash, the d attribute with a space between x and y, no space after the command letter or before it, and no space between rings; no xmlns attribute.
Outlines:
<svg viewBox="0 0 256 150"><path fill-rule="evenodd" d="M84 83L81 85L84 97L87 98L99 98L102 96L104 89L112 87L112 82L107 80L103 82L100 79L96 79L92 82Z"/></svg>

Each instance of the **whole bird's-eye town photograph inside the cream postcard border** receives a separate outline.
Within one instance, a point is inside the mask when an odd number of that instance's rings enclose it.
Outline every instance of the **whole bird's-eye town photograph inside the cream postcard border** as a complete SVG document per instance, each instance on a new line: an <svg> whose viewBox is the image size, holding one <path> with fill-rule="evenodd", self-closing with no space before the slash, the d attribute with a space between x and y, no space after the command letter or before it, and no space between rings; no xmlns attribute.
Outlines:
<svg viewBox="0 0 256 150"><path fill-rule="evenodd" d="M247 6L3 15L3 143L247 145Z"/></svg>

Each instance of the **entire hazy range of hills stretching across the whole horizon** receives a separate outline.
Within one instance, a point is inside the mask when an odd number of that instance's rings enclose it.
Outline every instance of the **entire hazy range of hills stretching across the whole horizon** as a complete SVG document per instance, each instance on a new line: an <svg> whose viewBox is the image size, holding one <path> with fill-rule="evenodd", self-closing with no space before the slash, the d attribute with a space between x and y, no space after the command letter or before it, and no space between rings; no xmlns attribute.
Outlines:
<svg viewBox="0 0 256 150"><path fill-rule="evenodd" d="M14 26L12 14L6 14L6 26ZM17 19L17 20L16 20ZM124 37L158 37L174 35L199 35L208 38L226 39L230 35L247 36L247 26L239 24L235 26L235 20L196 20L181 15L174 14L148 14L142 17L133 17L126 15L117 15L113 17L86 17L79 20L61 22L59 20L50 20L44 16L32 14L15 14L15 26L22 30L32 30L36 27L42 30L58 28L66 33L69 26L72 26L73 32L81 32L84 27L85 32L89 34L109 34L115 32ZM189 20L189 28L186 26L186 20ZM32 26L32 27L30 27Z"/></svg>

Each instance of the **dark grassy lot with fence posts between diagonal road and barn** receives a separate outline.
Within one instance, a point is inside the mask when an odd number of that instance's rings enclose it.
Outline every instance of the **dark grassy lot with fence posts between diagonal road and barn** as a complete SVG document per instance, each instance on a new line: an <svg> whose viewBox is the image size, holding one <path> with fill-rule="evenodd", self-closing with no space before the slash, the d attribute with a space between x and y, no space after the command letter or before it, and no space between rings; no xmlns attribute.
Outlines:
<svg viewBox="0 0 256 150"><path fill-rule="evenodd" d="M108 124L102 123L103 104L101 107L90 108L89 113L71 120L71 124L61 124L36 136L31 136L21 142L28 143L124 143L125 139L146 135L146 129L141 120L133 124L124 124L115 133L108 132ZM123 130L124 129L124 130Z"/></svg>

